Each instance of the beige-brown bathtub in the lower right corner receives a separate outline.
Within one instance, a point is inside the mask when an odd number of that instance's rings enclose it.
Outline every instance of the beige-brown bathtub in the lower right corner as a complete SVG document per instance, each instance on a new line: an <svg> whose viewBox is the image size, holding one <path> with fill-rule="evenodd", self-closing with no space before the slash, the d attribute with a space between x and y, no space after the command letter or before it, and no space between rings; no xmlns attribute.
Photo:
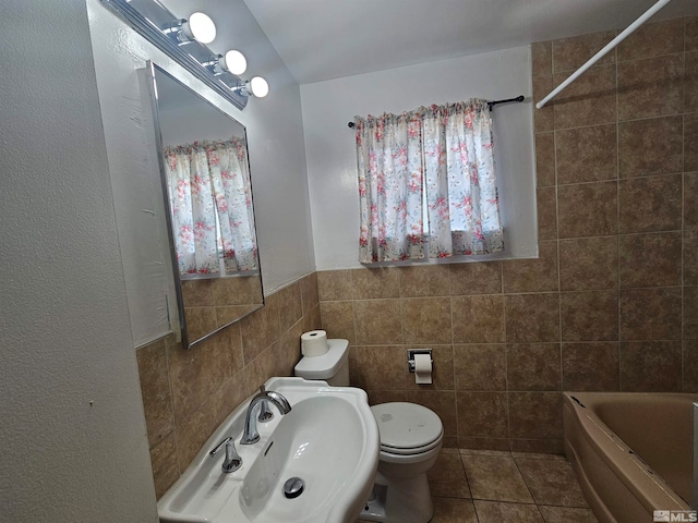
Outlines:
<svg viewBox="0 0 698 523"><path fill-rule="evenodd" d="M601 523L690 510L694 401L698 394L564 393L565 452Z"/></svg>

